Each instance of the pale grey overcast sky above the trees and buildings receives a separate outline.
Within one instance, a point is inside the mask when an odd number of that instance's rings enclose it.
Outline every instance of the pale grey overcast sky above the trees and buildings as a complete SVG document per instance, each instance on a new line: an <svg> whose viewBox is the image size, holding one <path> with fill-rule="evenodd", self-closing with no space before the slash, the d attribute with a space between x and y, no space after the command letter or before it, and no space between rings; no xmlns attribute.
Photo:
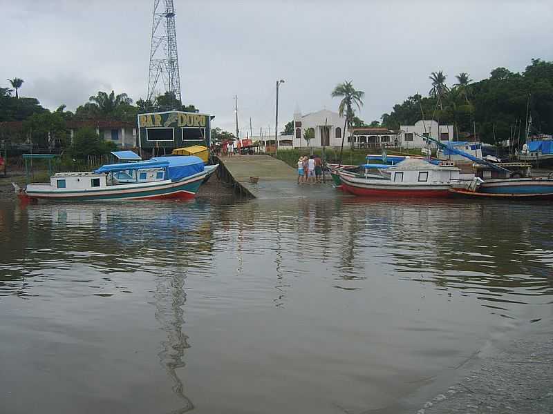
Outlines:
<svg viewBox="0 0 553 414"><path fill-rule="evenodd" d="M162 0L163 1L163 0ZM366 92L360 117L430 89L428 76L474 80L533 57L553 60L551 0L174 0L182 101L234 130L274 131L303 113L336 110L330 92L352 79ZM147 94L153 0L0 0L0 79L24 96L69 109L98 90ZM7 81L0 81L0 86Z"/></svg>

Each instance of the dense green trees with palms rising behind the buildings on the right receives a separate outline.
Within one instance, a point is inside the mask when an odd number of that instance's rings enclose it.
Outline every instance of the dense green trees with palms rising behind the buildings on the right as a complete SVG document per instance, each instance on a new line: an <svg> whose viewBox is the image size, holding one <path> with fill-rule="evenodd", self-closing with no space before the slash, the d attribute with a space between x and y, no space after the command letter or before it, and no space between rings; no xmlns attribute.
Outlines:
<svg viewBox="0 0 553 414"><path fill-rule="evenodd" d="M477 82L462 72L451 86L442 70L432 72L429 79L427 97L415 93L397 103L382 115L382 125L397 129L424 117L453 125L457 137L476 130L480 141L488 144L519 132L523 139L530 120L531 134L553 134L553 62L532 59L523 72L496 68Z"/></svg>

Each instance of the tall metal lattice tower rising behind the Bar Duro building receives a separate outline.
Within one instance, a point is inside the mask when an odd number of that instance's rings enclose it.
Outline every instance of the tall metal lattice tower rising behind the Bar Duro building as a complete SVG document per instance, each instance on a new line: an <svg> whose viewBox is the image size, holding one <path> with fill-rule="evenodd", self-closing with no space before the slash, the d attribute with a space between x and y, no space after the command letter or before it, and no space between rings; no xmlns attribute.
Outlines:
<svg viewBox="0 0 553 414"><path fill-rule="evenodd" d="M180 75L178 73L177 35L175 31L175 8L173 0L154 0L151 23L150 72L148 75L148 99L153 102L163 82L165 91L180 97ZM159 87L158 87L159 88Z"/></svg>

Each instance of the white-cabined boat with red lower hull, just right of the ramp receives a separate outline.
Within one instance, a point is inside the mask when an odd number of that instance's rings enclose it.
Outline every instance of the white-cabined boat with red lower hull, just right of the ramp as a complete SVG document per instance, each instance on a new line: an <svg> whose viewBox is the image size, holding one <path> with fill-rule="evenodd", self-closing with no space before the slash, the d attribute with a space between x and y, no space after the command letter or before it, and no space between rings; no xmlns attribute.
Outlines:
<svg viewBox="0 0 553 414"><path fill-rule="evenodd" d="M453 180L459 179L460 172L449 161L436 165L424 159L405 159L387 169L389 174L379 178L338 173L344 190L357 196L449 197L449 188Z"/></svg>

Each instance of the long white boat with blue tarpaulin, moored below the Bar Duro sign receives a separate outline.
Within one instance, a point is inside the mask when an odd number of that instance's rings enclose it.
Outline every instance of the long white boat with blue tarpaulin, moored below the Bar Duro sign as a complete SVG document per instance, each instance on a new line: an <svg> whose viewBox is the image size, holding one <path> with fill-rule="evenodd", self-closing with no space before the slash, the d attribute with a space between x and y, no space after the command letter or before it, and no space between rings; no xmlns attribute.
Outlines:
<svg viewBox="0 0 553 414"><path fill-rule="evenodd" d="M191 199L217 167L205 166L194 156L155 157L106 164L92 172L59 172L49 183L15 187L19 197L27 200Z"/></svg>

